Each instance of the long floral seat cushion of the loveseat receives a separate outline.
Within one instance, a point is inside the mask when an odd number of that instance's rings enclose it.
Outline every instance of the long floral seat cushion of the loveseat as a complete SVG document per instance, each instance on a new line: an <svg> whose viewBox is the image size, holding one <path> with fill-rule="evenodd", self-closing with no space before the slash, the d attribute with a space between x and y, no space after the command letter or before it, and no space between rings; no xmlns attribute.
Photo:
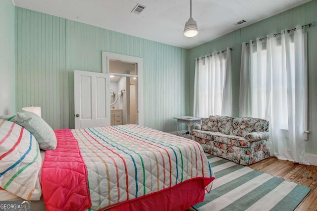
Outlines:
<svg viewBox="0 0 317 211"><path fill-rule="evenodd" d="M212 140L219 143L225 143L228 145L248 148L251 146L250 141L245 140L241 136L235 135L226 135L220 132L211 132L211 131L203 131L203 130L192 130L192 135L198 138L203 138L206 140Z"/></svg>

